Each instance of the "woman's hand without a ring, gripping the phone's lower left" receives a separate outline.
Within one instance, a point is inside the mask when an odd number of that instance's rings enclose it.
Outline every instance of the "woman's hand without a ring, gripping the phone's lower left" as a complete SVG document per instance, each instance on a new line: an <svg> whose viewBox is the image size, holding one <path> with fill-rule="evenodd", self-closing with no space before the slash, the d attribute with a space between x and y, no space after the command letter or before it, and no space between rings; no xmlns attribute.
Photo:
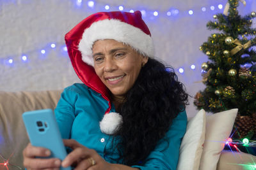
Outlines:
<svg viewBox="0 0 256 170"><path fill-rule="evenodd" d="M40 159L36 157L49 157L51 151L45 148L32 146L30 143L23 150L23 164L27 169L60 169L60 159Z"/></svg>

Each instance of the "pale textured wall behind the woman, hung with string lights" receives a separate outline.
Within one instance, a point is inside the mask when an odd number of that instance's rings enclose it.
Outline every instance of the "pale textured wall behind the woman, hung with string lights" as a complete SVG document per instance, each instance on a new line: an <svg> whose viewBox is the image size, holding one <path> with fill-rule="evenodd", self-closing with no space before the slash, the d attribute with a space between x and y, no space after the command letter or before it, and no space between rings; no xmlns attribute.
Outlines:
<svg viewBox="0 0 256 170"><path fill-rule="evenodd" d="M221 0L129 0L129 1L95 1L94 8L89 8L87 1L77 6L75 0L1 0L0 1L0 90L54 90L63 89L74 82L80 82L70 64L65 46L65 33L84 17L103 11L108 4L110 10L118 10L120 4L124 11L145 10L144 20L154 39L156 57L175 68L179 80L184 83L190 97L187 108L189 117L197 112L193 106L193 96L202 83L200 66L207 61L199 46L207 41L212 31L205 27L212 15L223 11L218 4L225 6ZM255 2L246 1L247 5L239 6L241 14L250 13L255 9ZM215 10L211 11L210 6ZM205 6L206 11L201 8ZM179 9L179 15L168 17L166 11ZM152 12L157 10L159 15L154 17ZM188 10L194 10L194 15L188 15ZM51 43L56 48L51 48ZM43 55L40 51L44 49ZM23 62L20 57L26 55L28 60ZM8 63L13 59L13 63ZM196 69L191 70L191 64ZM182 67L184 73L179 73Z"/></svg>

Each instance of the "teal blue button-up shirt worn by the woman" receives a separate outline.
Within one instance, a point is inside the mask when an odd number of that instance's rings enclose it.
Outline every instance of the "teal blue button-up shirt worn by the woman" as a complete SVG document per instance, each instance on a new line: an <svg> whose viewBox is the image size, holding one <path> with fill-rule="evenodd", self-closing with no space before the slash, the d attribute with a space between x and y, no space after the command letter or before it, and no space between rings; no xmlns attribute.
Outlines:
<svg viewBox="0 0 256 170"><path fill-rule="evenodd" d="M116 164L118 152L107 152L112 148L112 136L102 133L99 127L107 108L108 101L101 94L82 83L76 83L63 91L54 112L64 139L75 139L82 145L96 150L107 162ZM114 106L111 108L111 112L115 112ZM186 111L183 111L173 120L165 138L161 139L155 150L148 155L146 163L132 167L141 170L176 169L186 125Z"/></svg>

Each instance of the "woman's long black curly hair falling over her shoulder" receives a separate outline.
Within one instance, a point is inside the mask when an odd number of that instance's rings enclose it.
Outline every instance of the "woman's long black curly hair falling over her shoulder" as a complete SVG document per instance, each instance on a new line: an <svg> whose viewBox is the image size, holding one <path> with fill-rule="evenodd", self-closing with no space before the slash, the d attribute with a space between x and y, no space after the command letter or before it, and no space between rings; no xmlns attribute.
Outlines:
<svg viewBox="0 0 256 170"><path fill-rule="evenodd" d="M121 138L119 160L127 166L144 164L187 104L188 94L173 69L149 58L118 110L123 117L115 134Z"/></svg>

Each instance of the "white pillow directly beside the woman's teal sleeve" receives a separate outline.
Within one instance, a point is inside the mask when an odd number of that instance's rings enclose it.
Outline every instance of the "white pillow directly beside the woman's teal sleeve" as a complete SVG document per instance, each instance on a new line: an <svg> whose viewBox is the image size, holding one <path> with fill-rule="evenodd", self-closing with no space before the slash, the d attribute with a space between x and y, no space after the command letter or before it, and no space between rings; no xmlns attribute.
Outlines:
<svg viewBox="0 0 256 170"><path fill-rule="evenodd" d="M205 138L205 111L200 110L188 121L180 145L178 170L198 170Z"/></svg>

